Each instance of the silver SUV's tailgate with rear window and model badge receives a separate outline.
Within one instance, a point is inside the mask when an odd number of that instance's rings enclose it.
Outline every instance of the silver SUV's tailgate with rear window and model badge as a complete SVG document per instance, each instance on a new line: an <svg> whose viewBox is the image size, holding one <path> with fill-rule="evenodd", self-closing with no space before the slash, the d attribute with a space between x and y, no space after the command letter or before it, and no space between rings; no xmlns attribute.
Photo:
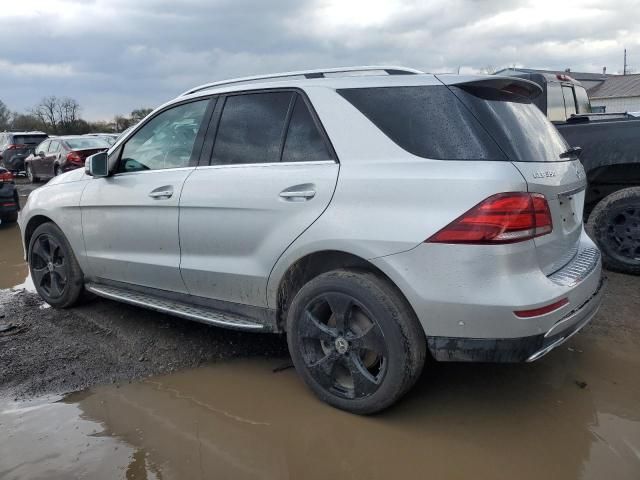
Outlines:
<svg viewBox="0 0 640 480"><path fill-rule="evenodd" d="M549 275L566 265L578 249L586 188L584 168L575 156L561 157L569 148L567 142L526 96L514 94L510 90L518 90L509 85L491 89L491 82L486 83L486 87L461 84L452 91L520 171L528 190L546 197L553 230L534 242L540 269Z"/></svg>

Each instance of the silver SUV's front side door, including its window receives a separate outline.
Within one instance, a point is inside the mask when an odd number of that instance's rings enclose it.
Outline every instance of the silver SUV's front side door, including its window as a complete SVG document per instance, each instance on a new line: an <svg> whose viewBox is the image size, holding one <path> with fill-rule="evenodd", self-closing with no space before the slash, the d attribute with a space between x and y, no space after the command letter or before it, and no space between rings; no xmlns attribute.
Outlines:
<svg viewBox="0 0 640 480"><path fill-rule="evenodd" d="M89 182L81 200L82 229L94 280L185 292L178 202L200 153L210 102L183 103L155 115L111 152L115 174Z"/></svg>

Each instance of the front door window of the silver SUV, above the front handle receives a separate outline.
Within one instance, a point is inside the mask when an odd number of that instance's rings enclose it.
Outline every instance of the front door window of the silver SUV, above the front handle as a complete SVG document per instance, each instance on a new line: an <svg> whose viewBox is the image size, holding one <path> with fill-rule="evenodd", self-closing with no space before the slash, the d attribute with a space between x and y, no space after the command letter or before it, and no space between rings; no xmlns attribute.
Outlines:
<svg viewBox="0 0 640 480"><path fill-rule="evenodd" d="M122 150L119 172L188 167L209 100L185 103L153 117Z"/></svg>

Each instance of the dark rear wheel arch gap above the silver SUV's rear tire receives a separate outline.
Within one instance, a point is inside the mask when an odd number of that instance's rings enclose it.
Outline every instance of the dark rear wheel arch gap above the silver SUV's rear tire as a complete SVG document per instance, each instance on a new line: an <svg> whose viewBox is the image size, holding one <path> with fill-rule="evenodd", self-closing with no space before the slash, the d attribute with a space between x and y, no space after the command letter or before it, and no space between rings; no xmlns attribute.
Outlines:
<svg viewBox="0 0 640 480"><path fill-rule="evenodd" d="M408 299L398 288L398 286L373 263L368 260L341 250L320 250L308 253L295 261L285 270L278 281L276 290L276 321L280 331L286 330L286 315L291 301L298 291L310 280L318 275L336 269L362 270L376 274L383 278L394 288L413 310ZM415 311L414 311L415 313Z"/></svg>

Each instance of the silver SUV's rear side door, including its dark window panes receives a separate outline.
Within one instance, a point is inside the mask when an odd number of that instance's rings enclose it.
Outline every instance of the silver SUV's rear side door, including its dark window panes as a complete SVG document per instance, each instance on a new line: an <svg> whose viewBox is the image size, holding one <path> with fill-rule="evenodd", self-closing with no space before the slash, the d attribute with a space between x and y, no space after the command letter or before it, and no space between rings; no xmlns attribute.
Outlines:
<svg viewBox="0 0 640 480"><path fill-rule="evenodd" d="M273 265L328 206L339 166L294 91L222 97L209 132L180 201L182 277L192 295L265 306Z"/></svg>

